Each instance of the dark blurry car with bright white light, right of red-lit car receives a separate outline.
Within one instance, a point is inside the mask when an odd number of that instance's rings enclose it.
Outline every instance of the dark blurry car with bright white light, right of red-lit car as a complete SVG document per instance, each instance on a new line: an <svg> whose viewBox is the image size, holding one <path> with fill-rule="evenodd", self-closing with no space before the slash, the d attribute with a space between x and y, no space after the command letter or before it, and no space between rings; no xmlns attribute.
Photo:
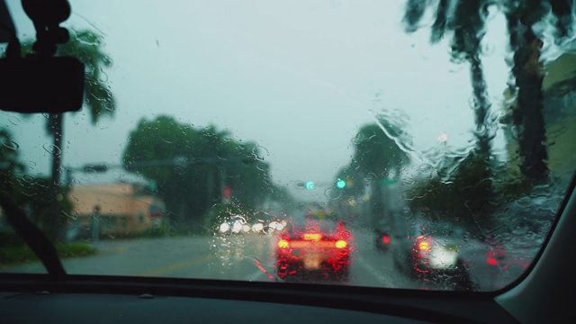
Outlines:
<svg viewBox="0 0 576 324"><path fill-rule="evenodd" d="M452 284L457 290L487 290L498 284L501 254L485 241L468 238L453 223L420 222L408 235L394 239L392 257L404 274Z"/></svg>

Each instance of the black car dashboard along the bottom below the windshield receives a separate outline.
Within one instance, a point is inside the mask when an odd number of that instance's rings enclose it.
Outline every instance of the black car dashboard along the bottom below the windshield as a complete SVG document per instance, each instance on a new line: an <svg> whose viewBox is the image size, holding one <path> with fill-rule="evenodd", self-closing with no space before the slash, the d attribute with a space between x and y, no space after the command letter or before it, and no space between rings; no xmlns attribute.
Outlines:
<svg viewBox="0 0 576 324"><path fill-rule="evenodd" d="M476 293L76 275L4 276L2 286L6 323L516 322Z"/></svg>

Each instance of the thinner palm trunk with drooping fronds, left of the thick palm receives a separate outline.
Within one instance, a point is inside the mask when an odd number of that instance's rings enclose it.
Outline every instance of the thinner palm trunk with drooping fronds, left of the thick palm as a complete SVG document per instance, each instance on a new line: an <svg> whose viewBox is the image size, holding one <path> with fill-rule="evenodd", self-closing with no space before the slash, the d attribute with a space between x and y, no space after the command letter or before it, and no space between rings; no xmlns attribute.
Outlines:
<svg viewBox="0 0 576 324"><path fill-rule="evenodd" d="M404 17L407 32L417 30L419 20L424 15L427 4L428 2L420 4L415 4L415 1L408 2ZM451 39L452 57L455 61L465 61L470 65L476 147L459 166L456 177L464 179L464 187L469 186L476 193L486 193L474 195L473 203L469 203L473 205L474 212L484 212L486 211L485 208L490 207L491 193L493 192L490 156L495 128L494 123L489 118L491 103L481 58L481 45L486 33L485 23L490 4L494 4L494 2L491 0L461 0L453 3L448 0L440 0L430 37L430 42L435 44L443 39L446 31L453 31ZM418 5L418 11L411 8ZM415 12L422 12L422 14L410 14ZM470 176L471 170L473 170L473 176Z"/></svg>

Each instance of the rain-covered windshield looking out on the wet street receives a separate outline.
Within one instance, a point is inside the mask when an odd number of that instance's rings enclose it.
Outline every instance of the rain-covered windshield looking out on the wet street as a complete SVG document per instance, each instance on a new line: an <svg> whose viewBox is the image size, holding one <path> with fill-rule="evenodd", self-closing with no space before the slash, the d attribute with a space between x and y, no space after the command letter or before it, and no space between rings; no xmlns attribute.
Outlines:
<svg viewBox="0 0 576 324"><path fill-rule="evenodd" d="M499 290L576 168L573 8L527 3L70 1L83 109L0 111L0 188L67 274Z"/></svg>

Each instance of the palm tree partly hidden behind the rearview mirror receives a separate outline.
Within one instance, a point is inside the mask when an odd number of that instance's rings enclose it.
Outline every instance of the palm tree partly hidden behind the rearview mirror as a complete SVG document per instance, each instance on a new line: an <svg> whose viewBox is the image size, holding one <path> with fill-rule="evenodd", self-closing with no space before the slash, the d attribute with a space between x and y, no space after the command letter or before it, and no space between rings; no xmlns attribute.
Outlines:
<svg viewBox="0 0 576 324"><path fill-rule="evenodd" d="M32 52L33 40L23 42L23 53ZM94 31L70 31L70 39L59 45L56 56L76 57L85 64L85 109L90 113L91 121L95 124L103 116L112 117L115 111L114 98L110 86L103 79L103 67L110 67L112 59L102 51L103 37ZM63 113L49 114L46 130L53 138L52 166L51 166L51 193L53 193L52 216L49 220L49 237L60 238L58 220L60 218L59 205L56 195L60 185L62 169Z"/></svg>

